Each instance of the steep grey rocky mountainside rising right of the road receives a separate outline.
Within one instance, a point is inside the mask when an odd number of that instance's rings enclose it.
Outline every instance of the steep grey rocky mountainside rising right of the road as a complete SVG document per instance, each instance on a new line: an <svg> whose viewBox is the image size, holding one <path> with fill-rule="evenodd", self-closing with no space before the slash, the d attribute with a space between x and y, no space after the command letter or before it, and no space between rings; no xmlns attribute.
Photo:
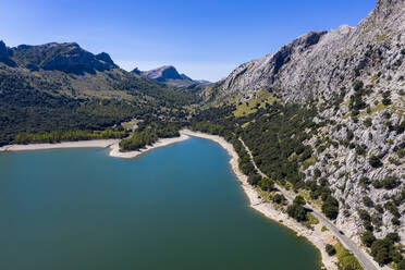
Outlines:
<svg viewBox="0 0 405 270"><path fill-rule="evenodd" d="M316 107L317 135L304 142L315 157L302 172L328 182L341 205L336 224L359 245L370 225L405 244L404 95L404 0L378 0L357 27L305 34L201 91L243 115L247 103Z"/></svg>

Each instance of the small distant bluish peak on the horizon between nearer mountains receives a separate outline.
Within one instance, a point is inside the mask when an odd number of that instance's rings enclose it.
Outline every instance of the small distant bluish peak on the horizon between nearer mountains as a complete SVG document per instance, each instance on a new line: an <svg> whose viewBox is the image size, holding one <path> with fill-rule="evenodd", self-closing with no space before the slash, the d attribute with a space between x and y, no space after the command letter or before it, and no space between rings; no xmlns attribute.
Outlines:
<svg viewBox="0 0 405 270"><path fill-rule="evenodd" d="M180 74L172 65L163 65L161 68L150 71L139 71L135 69L132 71L135 74L143 74L160 83L167 83L177 87L188 87L192 85L209 84L208 81L194 81L185 74Z"/></svg>

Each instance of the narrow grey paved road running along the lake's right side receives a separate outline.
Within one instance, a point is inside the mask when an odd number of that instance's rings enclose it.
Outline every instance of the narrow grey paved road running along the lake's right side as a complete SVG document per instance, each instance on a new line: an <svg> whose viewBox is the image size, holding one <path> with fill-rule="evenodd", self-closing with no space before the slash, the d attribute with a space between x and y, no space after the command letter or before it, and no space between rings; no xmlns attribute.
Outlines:
<svg viewBox="0 0 405 270"><path fill-rule="evenodd" d="M262 177L267 177L267 175L260 171L260 169L256 165L256 162L253 158L253 155L249 150L249 148L245 145L245 142L243 142L242 138L240 138L241 143L243 144L243 146L245 147L247 154L249 155L250 157L250 161L253 163L253 165L255 167L256 171L262 176ZM283 188L281 187L280 185L277 185L275 184L275 187L278 188L278 192L280 192L281 194L284 195L284 197L289 200L289 201L293 201L293 197ZM349 250L354 254L354 256L356 256L357 260L363 265L363 267L365 268L365 270L377 270L376 266L370 261L370 259L356 246L356 244L353 243L352 240L349 240L347 236L341 234L341 231L331 222L329 221L327 218L323 217L322 213L309 208L308 206L306 206L306 209L311 211L311 213L320 221L322 222L322 224L324 226L327 226L331 232L333 232L333 234L336 236L336 238L339 238L339 241Z"/></svg>

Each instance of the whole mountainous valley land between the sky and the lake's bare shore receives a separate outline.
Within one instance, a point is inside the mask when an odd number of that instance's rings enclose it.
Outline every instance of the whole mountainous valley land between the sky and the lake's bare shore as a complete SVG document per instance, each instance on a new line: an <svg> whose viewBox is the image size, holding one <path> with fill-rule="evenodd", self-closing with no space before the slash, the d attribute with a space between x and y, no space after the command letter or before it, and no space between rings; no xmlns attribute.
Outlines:
<svg viewBox="0 0 405 270"><path fill-rule="evenodd" d="M327 269L405 269L404 98L404 0L216 83L171 65L127 72L75 42L0 41L4 149L113 139L127 154L184 128L220 136L260 204L307 238L330 235L316 244Z"/></svg>

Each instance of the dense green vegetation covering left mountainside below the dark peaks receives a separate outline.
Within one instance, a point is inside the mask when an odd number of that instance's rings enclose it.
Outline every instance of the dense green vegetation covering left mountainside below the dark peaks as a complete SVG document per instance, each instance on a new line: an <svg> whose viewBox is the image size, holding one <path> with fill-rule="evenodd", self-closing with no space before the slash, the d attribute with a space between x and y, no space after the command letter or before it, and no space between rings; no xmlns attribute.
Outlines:
<svg viewBox="0 0 405 270"><path fill-rule="evenodd" d="M134 118L184 121L182 107L196 100L193 93L121 70L86 76L50 71L33 75L0 63L0 146L21 133L103 131Z"/></svg>

